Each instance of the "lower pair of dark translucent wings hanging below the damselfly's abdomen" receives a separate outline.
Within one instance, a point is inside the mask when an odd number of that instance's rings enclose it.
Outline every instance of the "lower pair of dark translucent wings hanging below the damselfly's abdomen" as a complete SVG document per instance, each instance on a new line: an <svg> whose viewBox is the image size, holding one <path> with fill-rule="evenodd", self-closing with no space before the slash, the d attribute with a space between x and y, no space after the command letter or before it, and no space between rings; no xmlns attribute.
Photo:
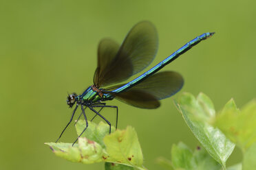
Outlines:
<svg viewBox="0 0 256 170"><path fill-rule="evenodd" d="M163 71L151 75L143 82L122 93L111 93L116 99L138 108L158 108L158 100L171 97L183 86L182 75Z"/></svg>

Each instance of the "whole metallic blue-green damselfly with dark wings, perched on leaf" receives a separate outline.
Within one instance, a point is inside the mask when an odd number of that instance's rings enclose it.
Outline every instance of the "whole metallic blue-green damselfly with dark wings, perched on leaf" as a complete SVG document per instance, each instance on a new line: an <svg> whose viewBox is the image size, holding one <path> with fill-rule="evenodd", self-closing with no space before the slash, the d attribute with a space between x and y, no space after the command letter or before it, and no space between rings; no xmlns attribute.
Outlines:
<svg viewBox="0 0 256 170"><path fill-rule="evenodd" d="M94 84L89 86L81 95L73 93L67 96L67 105L70 108L75 105L75 108L63 132L70 125L78 106L81 106L81 114L86 122L83 132L88 127L85 108L89 108L109 124L109 133L111 132L111 123L100 114L100 110L115 108L117 126L118 107L108 106L105 101L115 98L138 108L158 108L160 106L159 100L177 93L182 88L184 80L182 75L174 71L156 72L213 34L214 32L207 32L197 36L136 79L114 86L111 85L123 82L149 66L158 50L158 34L152 23L142 21L131 28L120 46L111 39L101 40L98 45L98 66L94 73ZM100 110L96 111L96 108L100 108Z"/></svg>

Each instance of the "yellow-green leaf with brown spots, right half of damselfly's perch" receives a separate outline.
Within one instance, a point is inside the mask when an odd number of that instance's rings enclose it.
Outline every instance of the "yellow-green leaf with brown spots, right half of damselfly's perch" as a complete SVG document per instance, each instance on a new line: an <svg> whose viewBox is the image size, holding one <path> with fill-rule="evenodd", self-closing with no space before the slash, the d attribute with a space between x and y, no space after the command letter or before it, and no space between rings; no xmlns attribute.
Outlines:
<svg viewBox="0 0 256 170"><path fill-rule="evenodd" d="M107 162L142 167L142 151L133 127L128 126L126 130L116 130L116 132L105 136L104 143L109 154Z"/></svg>

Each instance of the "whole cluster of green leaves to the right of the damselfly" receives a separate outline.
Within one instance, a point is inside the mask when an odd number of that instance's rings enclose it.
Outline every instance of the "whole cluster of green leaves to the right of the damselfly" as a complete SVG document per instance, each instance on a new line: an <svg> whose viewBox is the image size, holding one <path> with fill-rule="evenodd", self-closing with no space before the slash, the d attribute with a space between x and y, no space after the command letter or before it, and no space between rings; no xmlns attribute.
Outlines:
<svg viewBox="0 0 256 170"><path fill-rule="evenodd" d="M167 169L256 169L256 101L250 101L241 110L231 99L216 114L213 102L200 93L194 97L183 93L175 101L191 132L202 147L189 150L186 145L173 145L171 160L159 158L158 162ZM226 160L235 146L243 153L243 160L226 168ZM178 148L178 149L177 149Z"/></svg>

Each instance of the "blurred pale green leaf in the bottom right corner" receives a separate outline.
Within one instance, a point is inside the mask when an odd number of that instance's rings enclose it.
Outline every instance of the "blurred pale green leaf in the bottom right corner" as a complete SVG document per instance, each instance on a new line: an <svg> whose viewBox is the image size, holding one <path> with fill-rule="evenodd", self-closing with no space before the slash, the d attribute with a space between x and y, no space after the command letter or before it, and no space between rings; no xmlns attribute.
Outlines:
<svg viewBox="0 0 256 170"><path fill-rule="evenodd" d="M243 170L252 170L256 167L256 143L253 143L245 152Z"/></svg>

